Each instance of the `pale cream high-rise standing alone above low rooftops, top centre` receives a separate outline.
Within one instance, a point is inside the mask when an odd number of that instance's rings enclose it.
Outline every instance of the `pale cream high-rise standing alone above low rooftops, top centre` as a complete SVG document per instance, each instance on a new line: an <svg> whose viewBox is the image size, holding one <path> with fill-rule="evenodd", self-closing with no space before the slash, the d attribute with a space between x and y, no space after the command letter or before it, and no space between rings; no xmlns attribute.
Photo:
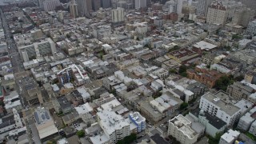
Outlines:
<svg viewBox="0 0 256 144"><path fill-rule="evenodd" d="M118 7L117 9L111 10L112 23L113 25L122 25L125 22L124 9Z"/></svg>

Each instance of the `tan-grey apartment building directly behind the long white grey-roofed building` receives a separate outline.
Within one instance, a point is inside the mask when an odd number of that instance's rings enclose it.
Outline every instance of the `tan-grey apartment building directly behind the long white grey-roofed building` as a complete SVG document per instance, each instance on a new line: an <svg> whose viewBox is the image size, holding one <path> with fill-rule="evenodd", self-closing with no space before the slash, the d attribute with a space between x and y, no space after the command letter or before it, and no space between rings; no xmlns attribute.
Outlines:
<svg viewBox="0 0 256 144"><path fill-rule="evenodd" d="M227 87L226 92L230 94L235 100L247 99L252 94L254 89L250 86L246 86L242 82L234 82L233 85Z"/></svg>

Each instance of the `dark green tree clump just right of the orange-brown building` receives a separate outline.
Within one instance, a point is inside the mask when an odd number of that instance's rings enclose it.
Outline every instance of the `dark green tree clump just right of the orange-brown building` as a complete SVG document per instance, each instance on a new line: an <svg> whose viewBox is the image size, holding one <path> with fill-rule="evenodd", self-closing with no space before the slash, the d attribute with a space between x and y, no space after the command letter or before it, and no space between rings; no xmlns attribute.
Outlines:
<svg viewBox="0 0 256 144"><path fill-rule="evenodd" d="M229 77L224 75L221 78L218 78L218 80L215 82L214 88L216 88L217 90L226 91L227 86L230 86L231 84L233 84L233 82L234 80L232 75L230 75Z"/></svg>

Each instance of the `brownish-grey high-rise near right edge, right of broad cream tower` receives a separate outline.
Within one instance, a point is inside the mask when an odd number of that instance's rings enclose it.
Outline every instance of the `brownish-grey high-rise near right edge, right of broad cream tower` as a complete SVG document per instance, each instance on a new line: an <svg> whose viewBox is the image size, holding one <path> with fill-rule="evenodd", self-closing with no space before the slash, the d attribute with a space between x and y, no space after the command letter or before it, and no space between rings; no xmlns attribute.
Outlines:
<svg viewBox="0 0 256 144"><path fill-rule="evenodd" d="M241 25L244 27L248 26L248 23L254 18L254 10L250 9L238 9L234 10L234 15L232 18L232 23L235 25Z"/></svg>

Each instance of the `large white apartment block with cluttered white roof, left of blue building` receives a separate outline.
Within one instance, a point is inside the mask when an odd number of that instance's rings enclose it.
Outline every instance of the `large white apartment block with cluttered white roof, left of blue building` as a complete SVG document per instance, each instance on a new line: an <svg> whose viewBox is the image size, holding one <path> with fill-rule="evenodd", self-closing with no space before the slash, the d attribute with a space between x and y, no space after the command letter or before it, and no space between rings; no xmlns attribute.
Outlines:
<svg viewBox="0 0 256 144"><path fill-rule="evenodd" d="M110 139L110 143L116 143L130 135L130 124L114 111L102 110L97 113L98 124Z"/></svg>

